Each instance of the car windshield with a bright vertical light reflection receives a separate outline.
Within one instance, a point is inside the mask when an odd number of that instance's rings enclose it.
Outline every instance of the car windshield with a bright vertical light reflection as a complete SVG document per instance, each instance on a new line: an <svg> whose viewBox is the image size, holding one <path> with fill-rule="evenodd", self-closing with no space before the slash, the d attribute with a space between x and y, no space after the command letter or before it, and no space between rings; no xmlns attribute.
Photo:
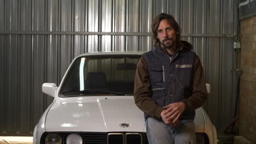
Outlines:
<svg viewBox="0 0 256 144"><path fill-rule="evenodd" d="M75 60L61 87L61 97L133 94L141 56L88 56Z"/></svg>

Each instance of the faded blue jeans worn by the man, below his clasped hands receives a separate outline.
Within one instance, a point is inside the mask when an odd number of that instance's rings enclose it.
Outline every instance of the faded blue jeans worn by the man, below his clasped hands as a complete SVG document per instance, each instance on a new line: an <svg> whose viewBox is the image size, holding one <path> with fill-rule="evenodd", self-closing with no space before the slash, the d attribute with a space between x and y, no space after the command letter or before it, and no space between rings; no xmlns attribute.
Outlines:
<svg viewBox="0 0 256 144"><path fill-rule="evenodd" d="M148 117L146 127L149 144L196 143L195 124L191 119L182 120L172 127L159 118Z"/></svg>

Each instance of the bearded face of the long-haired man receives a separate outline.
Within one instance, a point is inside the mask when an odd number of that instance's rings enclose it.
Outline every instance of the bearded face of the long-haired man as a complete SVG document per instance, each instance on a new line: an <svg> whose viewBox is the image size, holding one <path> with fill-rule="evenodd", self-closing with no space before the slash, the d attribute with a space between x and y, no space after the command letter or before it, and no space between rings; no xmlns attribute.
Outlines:
<svg viewBox="0 0 256 144"><path fill-rule="evenodd" d="M158 33L158 39L162 47L171 49L176 43L176 31L167 20L160 21L158 31L156 32Z"/></svg>

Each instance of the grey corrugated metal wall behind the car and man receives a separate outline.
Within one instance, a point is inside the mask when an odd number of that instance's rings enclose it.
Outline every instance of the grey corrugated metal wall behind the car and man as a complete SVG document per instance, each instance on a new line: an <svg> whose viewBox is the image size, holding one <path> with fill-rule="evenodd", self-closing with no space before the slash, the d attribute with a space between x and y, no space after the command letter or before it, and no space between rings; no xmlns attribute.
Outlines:
<svg viewBox="0 0 256 144"><path fill-rule="evenodd" d="M154 16L172 14L201 58L211 94L205 109L219 134L234 113L234 0L0 0L0 135L32 134L60 83L84 52L150 50Z"/></svg>

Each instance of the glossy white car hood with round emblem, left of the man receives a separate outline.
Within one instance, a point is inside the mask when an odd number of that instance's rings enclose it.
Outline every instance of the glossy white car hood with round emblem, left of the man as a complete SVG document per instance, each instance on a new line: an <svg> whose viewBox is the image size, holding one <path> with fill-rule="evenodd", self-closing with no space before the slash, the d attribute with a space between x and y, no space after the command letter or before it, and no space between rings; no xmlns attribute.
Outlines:
<svg viewBox="0 0 256 144"><path fill-rule="evenodd" d="M120 125L128 127L121 127ZM46 131L144 131L143 112L133 97L59 98L45 121Z"/></svg>

